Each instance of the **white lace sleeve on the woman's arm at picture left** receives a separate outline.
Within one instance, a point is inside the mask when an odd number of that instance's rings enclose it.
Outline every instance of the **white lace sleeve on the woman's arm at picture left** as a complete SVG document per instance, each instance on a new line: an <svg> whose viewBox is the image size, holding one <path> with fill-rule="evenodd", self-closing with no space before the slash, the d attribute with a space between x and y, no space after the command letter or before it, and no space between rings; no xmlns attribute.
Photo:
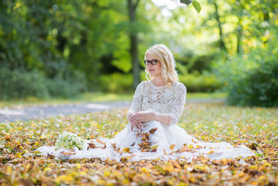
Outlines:
<svg viewBox="0 0 278 186"><path fill-rule="evenodd" d="M129 111L127 112L127 120L129 121L129 117L136 111L141 111L142 104L142 96L143 96L143 84L142 82L138 84L136 87L136 91L133 95L133 101L131 103L131 107L129 107Z"/></svg>

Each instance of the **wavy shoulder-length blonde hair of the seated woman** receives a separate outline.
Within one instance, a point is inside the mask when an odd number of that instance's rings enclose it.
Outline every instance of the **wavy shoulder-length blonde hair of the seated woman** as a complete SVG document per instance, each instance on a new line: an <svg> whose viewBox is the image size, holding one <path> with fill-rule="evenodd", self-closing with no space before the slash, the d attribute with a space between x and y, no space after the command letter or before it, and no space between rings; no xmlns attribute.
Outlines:
<svg viewBox="0 0 278 186"><path fill-rule="evenodd" d="M174 56L172 52L165 45L154 45L147 49L145 53L145 59L147 55L150 54L161 62L161 75L163 77L163 84L166 84L168 88L172 86L174 82L179 82L176 68L176 61L174 61ZM149 72L147 71L147 66L145 67L147 80L153 79ZM149 77L148 77L149 75Z"/></svg>

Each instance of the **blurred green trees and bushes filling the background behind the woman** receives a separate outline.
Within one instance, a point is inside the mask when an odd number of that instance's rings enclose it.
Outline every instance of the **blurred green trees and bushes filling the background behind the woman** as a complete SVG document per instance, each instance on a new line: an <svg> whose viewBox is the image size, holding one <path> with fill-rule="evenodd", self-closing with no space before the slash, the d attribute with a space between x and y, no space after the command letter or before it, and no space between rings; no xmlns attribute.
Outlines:
<svg viewBox="0 0 278 186"><path fill-rule="evenodd" d="M165 44L188 92L278 107L278 1L0 1L0 100L133 93Z"/></svg>

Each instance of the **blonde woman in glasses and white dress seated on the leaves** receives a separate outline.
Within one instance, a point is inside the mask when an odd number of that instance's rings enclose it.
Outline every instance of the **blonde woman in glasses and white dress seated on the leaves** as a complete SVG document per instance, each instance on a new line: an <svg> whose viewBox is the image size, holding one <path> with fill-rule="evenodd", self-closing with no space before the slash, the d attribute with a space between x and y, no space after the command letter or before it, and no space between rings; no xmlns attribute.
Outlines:
<svg viewBox="0 0 278 186"><path fill-rule="evenodd" d="M117 160L130 156L130 161L185 158L190 161L202 155L211 160L255 155L246 146L199 141L177 125L186 102L186 86L178 82L175 61L165 45L154 45L147 50L144 63L147 81L141 82L133 96L127 114L129 123L113 139L87 141L106 148L75 149L74 155L61 153L55 147L38 148L62 159L100 157ZM212 150L214 153L212 153Z"/></svg>

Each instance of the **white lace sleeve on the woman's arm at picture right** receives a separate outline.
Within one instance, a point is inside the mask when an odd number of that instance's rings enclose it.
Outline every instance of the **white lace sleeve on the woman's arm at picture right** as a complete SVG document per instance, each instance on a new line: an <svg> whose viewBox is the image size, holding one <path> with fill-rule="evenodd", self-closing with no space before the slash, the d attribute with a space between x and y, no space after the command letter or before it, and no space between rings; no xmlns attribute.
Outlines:
<svg viewBox="0 0 278 186"><path fill-rule="evenodd" d="M186 104L186 86L179 84L176 90L176 97L174 98L169 114L171 117L169 125L174 125L179 122L181 114L183 113L184 104Z"/></svg>

